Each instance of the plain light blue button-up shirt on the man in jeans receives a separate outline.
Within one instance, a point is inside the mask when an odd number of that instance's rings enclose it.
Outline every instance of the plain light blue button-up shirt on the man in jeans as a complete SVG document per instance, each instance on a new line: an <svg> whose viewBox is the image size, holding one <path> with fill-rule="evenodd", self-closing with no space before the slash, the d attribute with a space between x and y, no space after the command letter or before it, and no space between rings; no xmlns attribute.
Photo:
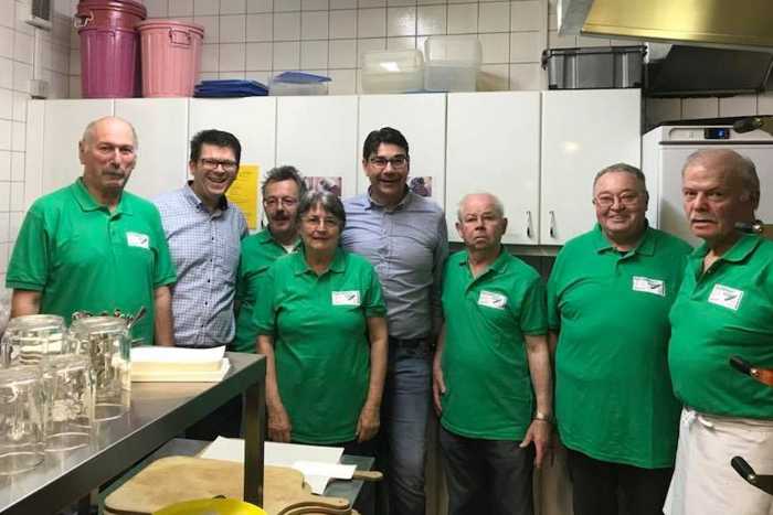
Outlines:
<svg viewBox="0 0 773 515"><path fill-rule="evenodd" d="M448 256L443 210L413 192L392 211L369 194L348 199L343 207L347 224L341 245L375 268L390 336L416 339L437 332L443 265Z"/></svg>

